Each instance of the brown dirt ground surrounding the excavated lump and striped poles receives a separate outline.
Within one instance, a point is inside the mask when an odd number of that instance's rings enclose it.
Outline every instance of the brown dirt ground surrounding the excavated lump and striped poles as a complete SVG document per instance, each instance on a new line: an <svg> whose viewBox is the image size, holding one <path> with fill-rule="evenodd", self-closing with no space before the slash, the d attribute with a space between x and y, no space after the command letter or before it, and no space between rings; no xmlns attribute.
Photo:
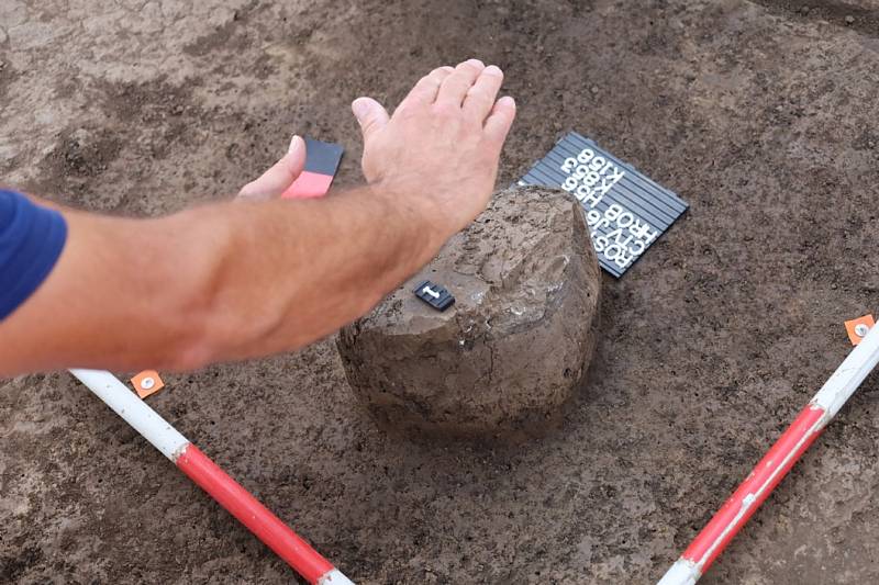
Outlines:
<svg viewBox="0 0 879 585"><path fill-rule="evenodd" d="M650 583L878 308L877 5L809 4L0 0L0 178L154 215L227 196L296 131L342 142L351 185L351 99L499 64L520 105L501 184L574 128L691 204L605 277L560 432L389 439L332 341L149 402L357 583ZM878 402L870 378L704 583L879 582ZM0 582L291 580L68 375L0 384Z"/></svg>

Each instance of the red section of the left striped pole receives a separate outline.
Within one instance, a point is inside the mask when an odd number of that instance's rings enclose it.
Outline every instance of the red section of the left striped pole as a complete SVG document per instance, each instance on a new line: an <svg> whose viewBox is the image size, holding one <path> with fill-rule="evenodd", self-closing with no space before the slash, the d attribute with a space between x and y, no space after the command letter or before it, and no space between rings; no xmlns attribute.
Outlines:
<svg viewBox="0 0 879 585"><path fill-rule="evenodd" d="M177 459L177 466L309 583L318 583L333 570L330 561L299 538L194 445L187 446Z"/></svg>

